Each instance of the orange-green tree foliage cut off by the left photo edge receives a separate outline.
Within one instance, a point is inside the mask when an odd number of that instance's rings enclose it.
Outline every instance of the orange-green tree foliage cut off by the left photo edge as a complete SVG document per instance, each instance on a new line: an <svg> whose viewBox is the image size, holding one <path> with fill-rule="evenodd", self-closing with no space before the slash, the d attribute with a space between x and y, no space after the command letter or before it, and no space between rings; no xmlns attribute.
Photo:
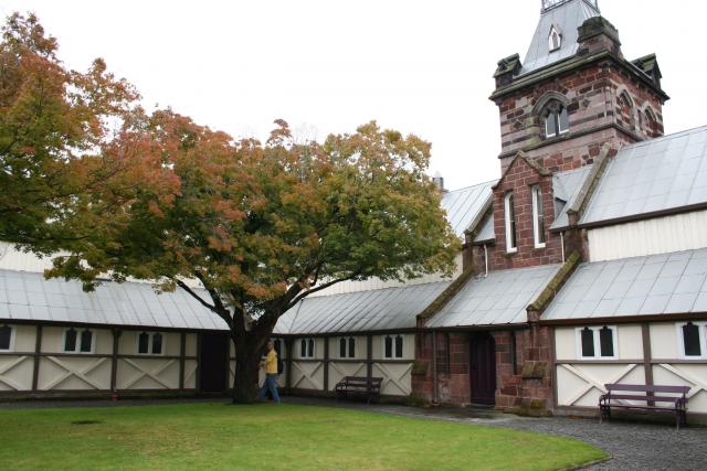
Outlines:
<svg viewBox="0 0 707 471"><path fill-rule="evenodd" d="M0 239L40 250L45 240L77 236L52 224L67 203L126 170L126 160L106 159L102 148L138 95L99 58L86 73L66 69L33 14L12 14L1 34Z"/></svg>

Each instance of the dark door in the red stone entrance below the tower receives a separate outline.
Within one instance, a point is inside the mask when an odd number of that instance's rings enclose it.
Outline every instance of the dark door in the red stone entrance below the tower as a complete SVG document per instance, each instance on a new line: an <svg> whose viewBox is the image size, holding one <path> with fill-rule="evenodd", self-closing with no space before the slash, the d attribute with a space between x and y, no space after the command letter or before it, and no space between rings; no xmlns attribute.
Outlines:
<svg viewBox="0 0 707 471"><path fill-rule="evenodd" d="M488 333L469 338L472 404L496 404L496 344Z"/></svg>

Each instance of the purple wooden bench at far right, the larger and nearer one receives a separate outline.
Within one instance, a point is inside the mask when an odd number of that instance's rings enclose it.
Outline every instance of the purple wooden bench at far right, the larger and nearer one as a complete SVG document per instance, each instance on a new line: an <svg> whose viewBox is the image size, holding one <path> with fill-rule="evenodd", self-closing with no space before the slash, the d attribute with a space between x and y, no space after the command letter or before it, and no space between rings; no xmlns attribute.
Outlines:
<svg viewBox="0 0 707 471"><path fill-rule="evenodd" d="M605 384L599 398L600 422L611 419L611 409L667 410L675 414L677 430L687 425L689 386L646 386L643 384ZM639 394L643 393L643 394ZM616 403L621 400L621 403Z"/></svg>

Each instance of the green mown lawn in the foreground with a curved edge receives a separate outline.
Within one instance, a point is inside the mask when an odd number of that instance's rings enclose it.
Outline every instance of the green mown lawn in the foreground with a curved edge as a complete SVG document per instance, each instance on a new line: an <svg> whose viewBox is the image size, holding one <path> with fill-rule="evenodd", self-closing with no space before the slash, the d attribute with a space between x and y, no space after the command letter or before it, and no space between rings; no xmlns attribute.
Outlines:
<svg viewBox="0 0 707 471"><path fill-rule="evenodd" d="M4 471L549 470L603 457L597 448L561 437L327 407L0 410Z"/></svg>

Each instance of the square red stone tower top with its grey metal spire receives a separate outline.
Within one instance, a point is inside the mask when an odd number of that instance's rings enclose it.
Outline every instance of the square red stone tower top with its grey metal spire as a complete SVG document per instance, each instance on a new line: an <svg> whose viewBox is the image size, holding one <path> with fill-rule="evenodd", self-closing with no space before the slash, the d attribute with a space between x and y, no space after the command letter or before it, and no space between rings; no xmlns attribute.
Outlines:
<svg viewBox="0 0 707 471"><path fill-rule="evenodd" d="M542 0L530 47L498 62L490 99L500 115L502 171L518 151L549 172L663 135L655 55L627 61L597 0Z"/></svg>

